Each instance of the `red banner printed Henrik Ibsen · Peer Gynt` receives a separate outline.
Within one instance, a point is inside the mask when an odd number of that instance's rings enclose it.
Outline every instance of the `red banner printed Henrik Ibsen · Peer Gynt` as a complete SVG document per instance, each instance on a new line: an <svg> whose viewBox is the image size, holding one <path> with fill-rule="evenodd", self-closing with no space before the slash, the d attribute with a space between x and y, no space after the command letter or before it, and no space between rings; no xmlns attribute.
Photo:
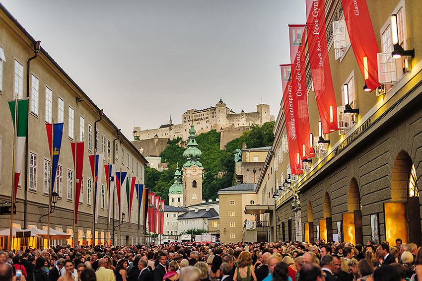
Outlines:
<svg viewBox="0 0 422 281"><path fill-rule="evenodd" d="M309 65L323 134L339 130L328 58L324 0L306 0Z"/></svg>

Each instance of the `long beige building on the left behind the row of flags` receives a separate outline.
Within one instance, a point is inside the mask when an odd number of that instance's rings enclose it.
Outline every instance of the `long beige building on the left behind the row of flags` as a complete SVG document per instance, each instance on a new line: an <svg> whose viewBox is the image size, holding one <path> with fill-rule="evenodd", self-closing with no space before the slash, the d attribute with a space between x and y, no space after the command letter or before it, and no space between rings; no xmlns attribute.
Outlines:
<svg viewBox="0 0 422 281"><path fill-rule="evenodd" d="M69 233L75 245L107 243L107 236L114 236L113 244L118 242L118 211L114 211L110 222L108 216L107 177L103 164L115 164L117 170L135 177L137 183L143 184L144 165L147 163L139 150L120 133L105 113L73 81L58 63L40 48L38 56L30 63L28 58L34 55L35 39L16 21L0 4L0 200L10 202L12 186L13 123L7 100L29 98L29 126L27 150L23 157L22 171L16 196L16 214L13 224L18 228L36 226L47 227L47 217L40 221L40 216L47 213L50 194L50 151L47 141L45 123L64 123L62 147L55 179L54 191L59 194L55 211L51 215L51 227ZM27 69L28 65L30 68ZM28 91L25 89L28 88ZM72 211L75 203L75 172L70 143L84 141L84 161L82 189L79 198L78 220L73 233ZM100 193L99 218L92 233L94 181L88 160L88 154L103 153L104 163L100 163L103 173L102 182L98 184ZM134 196L133 206L137 206ZM114 198L117 204L117 198ZM3 205L4 206L4 205ZM112 205L113 206L113 205ZM114 206L116 207L116 206ZM127 208L127 206L124 208ZM127 214L121 226L122 243L143 242L143 230L137 235L138 208L134 207ZM112 212L113 214L113 212ZM143 221L141 217L141 229ZM0 216L0 228L9 227L10 216ZM128 222L131 223L131 236L128 235ZM110 227L108 227L110 225ZM108 232L110 235L107 233ZM95 238L94 238L95 234ZM114 235L113 235L114 234ZM70 241L53 240L52 245ZM94 241L93 241L94 240ZM0 248L7 245L0 240ZM43 246L43 245L38 245Z"/></svg>

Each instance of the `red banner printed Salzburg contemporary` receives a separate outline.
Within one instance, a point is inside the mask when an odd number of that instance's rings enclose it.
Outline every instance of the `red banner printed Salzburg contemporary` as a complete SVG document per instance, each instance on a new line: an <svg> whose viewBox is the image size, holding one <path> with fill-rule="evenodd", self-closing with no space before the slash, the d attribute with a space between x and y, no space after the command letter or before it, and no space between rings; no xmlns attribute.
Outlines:
<svg viewBox="0 0 422 281"><path fill-rule="evenodd" d="M293 110L293 94L291 89L291 65L281 65L281 85L283 87L284 119L288 143L288 156L292 175L303 173L300 169L299 144L296 134L296 120Z"/></svg>

